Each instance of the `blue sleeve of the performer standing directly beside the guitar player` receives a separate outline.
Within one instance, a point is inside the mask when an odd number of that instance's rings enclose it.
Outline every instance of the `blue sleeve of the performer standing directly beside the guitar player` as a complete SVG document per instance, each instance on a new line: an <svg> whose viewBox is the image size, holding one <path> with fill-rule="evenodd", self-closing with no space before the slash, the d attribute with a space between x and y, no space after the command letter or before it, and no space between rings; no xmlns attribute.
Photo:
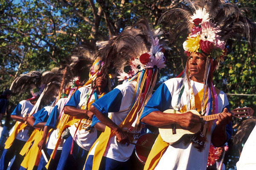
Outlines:
<svg viewBox="0 0 256 170"><path fill-rule="evenodd" d="M108 116L108 112L118 112L122 103L122 92L115 88L99 98L92 105L101 113Z"/></svg>

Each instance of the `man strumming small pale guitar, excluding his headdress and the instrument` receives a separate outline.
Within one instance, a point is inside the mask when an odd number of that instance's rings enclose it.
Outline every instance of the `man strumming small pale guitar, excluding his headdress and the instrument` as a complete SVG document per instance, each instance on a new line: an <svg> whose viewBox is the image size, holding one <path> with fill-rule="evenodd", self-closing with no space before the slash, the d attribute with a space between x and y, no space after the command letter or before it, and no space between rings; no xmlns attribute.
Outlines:
<svg viewBox="0 0 256 170"><path fill-rule="evenodd" d="M184 78L174 78L160 85L145 106L141 122L156 127L177 124L188 130L200 124L200 116L187 110L200 111L201 109L206 61L206 55L191 53L187 62L191 75L189 83L184 82ZM184 92L180 95L180 87L182 87L183 82ZM217 89L215 90L217 91ZM158 136L144 169L206 169L210 142L218 147L232 135L230 123L232 115L229 113L229 103L223 91L219 92L217 100L218 113L220 114L216 123L212 122L212 125L209 123L202 124L198 133L184 136L179 142L172 145L163 142L161 136ZM193 102L195 103L194 106ZM189 105L190 109L187 109ZM163 113L170 108L183 113ZM207 108L203 108L202 116L207 110Z"/></svg>

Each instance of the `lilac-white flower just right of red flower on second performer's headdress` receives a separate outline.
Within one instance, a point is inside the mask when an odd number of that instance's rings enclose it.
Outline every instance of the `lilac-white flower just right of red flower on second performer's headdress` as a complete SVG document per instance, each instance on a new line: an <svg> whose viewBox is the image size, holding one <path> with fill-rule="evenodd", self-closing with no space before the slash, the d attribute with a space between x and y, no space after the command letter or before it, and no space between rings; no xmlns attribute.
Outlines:
<svg viewBox="0 0 256 170"><path fill-rule="evenodd" d="M155 55L152 53L149 53L150 56L150 62L145 66L146 68L154 68L154 66L157 66L157 68L164 68L166 65L165 58L163 55L163 52L157 52Z"/></svg>

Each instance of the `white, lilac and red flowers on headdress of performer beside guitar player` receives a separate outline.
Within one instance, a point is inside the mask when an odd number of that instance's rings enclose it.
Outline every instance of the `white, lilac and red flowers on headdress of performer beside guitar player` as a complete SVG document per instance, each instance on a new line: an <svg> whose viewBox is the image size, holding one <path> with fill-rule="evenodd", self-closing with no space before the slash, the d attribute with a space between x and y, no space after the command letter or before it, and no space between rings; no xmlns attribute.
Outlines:
<svg viewBox="0 0 256 170"><path fill-rule="evenodd" d="M150 52L141 54L139 59L133 58L130 62L131 70L126 73L125 71L118 72L118 81L123 81L125 79L131 78L136 75L139 71L146 68L164 68L166 58L164 57L164 48L160 46L159 40L156 37L152 40Z"/></svg>

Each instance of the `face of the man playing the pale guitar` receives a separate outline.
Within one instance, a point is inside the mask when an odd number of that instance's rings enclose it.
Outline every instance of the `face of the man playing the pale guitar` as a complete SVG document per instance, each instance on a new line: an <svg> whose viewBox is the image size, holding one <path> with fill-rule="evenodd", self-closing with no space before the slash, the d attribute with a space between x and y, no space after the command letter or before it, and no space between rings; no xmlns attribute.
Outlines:
<svg viewBox="0 0 256 170"><path fill-rule="evenodd" d="M201 53L191 53L189 56L189 72L192 76L192 80L196 78L201 81L204 79L204 71L206 65L206 57Z"/></svg>

